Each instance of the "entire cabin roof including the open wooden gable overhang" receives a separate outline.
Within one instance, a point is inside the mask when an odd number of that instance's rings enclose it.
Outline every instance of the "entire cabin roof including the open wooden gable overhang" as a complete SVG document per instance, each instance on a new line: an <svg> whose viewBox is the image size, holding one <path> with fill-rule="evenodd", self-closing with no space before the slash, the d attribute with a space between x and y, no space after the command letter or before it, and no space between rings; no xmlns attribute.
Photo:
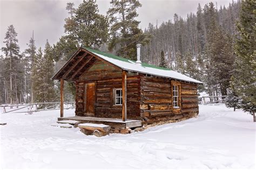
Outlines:
<svg viewBox="0 0 256 170"><path fill-rule="evenodd" d="M191 77L188 77L184 74L174 72L173 70L160 70L157 68L143 67L142 65L138 65L133 61L127 60L129 62L125 62L109 58L102 54L89 51L83 47L79 47L77 51L73 53L71 58L65 63L65 65L62 68L58 70L58 72L52 77L52 79L76 81L76 79L83 72L85 72L86 69L90 68L90 66L92 66L96 60L103 61L116 69L126 70L129 72L142 73L190 83L203 84L203 82L192 79Z"/></svg>

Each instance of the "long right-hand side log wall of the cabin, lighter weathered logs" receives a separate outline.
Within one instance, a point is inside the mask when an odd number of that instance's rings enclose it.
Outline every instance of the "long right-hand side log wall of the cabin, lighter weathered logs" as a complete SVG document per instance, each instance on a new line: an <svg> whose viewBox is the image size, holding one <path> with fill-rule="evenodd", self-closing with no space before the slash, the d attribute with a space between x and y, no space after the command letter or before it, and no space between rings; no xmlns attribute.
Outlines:
<svg viewBox="0 0 256 170"><path fill-rule="evenodd" d="M170 79L140 75L140 114L143 124L180 121L198 115L197 84L179 83L180 108L172 107L172 82Z"/></svg>

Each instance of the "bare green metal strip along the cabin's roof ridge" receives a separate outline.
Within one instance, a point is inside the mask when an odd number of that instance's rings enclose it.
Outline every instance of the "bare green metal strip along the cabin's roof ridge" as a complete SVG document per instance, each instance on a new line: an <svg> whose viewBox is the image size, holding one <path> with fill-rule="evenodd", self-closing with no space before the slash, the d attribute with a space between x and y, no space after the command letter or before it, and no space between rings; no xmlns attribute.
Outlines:
<svg viewBox="0 0 256 170"><path fill-rule="evenodd" d="M98 51L96 49L91 49L91 48L87 48L87 47L83 47L83 48L86 49L87 51L92 52L92 53L97 53L97 54L100 54L100 55L104 55L104 56L112 58L112 59L116 59L116 60L120 60L120 61L125 61L125 62L129 62L129 63L131 63L130 61L136 62L134 60L125 59L125 58L122 58L122 57L117 56L117 55L113 55L113 54L110 54L110 53ZM150 64L145 63L145 62L142 62L142 66L143 67L150 67L150 68L161 69L161 70L171 70L169 68L164 68L164 67L158 67L158 66L150 65Z"/></svg>

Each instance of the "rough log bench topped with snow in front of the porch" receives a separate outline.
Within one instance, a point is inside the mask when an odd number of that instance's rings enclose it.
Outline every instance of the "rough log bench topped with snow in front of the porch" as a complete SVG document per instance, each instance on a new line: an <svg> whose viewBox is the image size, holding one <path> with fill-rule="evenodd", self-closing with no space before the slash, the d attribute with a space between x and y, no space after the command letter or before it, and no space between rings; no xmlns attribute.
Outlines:
<svg viewBox="0 0 256 170"><path fill-rule="evenodd" d="M109 134L111 127L104 124L83 123L79 124L78 128L86 135L93 134L97 137L102 137Z"/></svg>

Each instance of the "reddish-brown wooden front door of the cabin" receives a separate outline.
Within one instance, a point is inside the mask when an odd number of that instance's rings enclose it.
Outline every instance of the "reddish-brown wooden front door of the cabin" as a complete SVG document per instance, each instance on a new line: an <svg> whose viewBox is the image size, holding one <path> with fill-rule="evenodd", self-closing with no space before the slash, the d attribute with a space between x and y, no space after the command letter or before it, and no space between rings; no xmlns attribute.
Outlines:
<svg viewBox="0 0 256 170"><path fill-rule="evenodd" d="M85 116L95 116L95 83L85 84Z"/></svg>

